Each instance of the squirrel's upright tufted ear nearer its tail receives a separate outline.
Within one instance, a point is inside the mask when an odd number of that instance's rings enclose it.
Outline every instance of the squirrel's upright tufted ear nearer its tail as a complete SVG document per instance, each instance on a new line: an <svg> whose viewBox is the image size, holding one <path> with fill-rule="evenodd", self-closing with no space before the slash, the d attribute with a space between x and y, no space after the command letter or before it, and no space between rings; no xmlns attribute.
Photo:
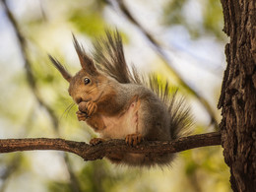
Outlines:
<svg viewBox="0 0 256 192"><path fill-rule="evenodd" d="M87 73L89 73L91 75L96 75L97 72L96 72L96 66L95 66L94 60L90 56L87 55L84 47L80 46L80 44L78 43L78 40L74 34L73 34L73 42L74 42L74 46L76 48L82 68Z"/></svg>

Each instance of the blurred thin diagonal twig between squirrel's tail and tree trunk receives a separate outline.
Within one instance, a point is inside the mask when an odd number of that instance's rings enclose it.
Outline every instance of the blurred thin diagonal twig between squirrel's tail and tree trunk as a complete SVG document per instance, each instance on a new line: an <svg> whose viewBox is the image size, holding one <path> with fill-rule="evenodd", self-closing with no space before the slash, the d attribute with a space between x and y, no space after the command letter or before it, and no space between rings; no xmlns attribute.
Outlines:
<svg viewBox="0 0 256 192"><path fill-rule="evenodd" d="M111 0L106 0L105 2L108 5L114 7L114 5L111 3ZM201 96L195 89L190 87L185 82L185 80L183 80L181 78L180 74L172 67L173 64L169 60L168 56L164 53L163 48L160 45L159 41L150 32L145 30L145 28L133 17L133 15L131 14L129 9L127 8L125 3L123 2L123 0L116 0L115 2L118 5L121 12L123 13L123 15L146 36L146 38L149 40L149 42L151 43L153 48L159 54L161 60L163 61L163 63L167 67L167 69L169 69L171 73L175 74L175 77L177 78L180 85L184 89L188 90L193 96L196 96L197 99L202 103L202 105L204 106L204 108L207 110L208 114L211 117L211 124L213 124L217 130L219 130L219 125L218 125L218 122L217 122L216 117L215 117L216 116L215 112L212 109L209 102L203 96Z"/></svg>

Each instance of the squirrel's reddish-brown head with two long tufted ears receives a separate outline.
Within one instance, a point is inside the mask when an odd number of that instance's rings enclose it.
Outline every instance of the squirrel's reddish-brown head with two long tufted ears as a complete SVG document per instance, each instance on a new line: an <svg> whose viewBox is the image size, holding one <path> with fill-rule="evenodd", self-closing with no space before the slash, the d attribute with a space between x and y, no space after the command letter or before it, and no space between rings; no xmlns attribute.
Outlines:
<svg viewBox="0 0 256 192"><path fill-rule="evenodd" d="M82 66L75 76L72 77L58 60L50 55L49 58L62 77L69 82L69 95L77 104L81 101L96 100L103 91L102 86L108 83L108 79L98 72L94 60L86 53L74 35L73 40Z"/></svg>

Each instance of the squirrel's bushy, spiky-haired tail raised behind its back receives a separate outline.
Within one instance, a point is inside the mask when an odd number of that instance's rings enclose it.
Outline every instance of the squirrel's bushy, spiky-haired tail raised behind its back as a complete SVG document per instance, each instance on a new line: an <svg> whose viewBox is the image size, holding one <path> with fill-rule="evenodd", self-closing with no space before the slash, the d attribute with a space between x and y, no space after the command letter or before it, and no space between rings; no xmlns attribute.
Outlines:
<svg viewBox="0 0 256 192"><path fill-rule="evenodd" d="M97 68L119 83L147 86L165 103L170 115L171 139L174 140L190 133L192 117L189 107L184 102L184 97L177 96L177 91L173 92L168 83L160 82L157 76L151 76L147 81L137 72L134 66L129 70L119 32L106 31L106 37L96 39L94 46L94 59Z"/></svg>

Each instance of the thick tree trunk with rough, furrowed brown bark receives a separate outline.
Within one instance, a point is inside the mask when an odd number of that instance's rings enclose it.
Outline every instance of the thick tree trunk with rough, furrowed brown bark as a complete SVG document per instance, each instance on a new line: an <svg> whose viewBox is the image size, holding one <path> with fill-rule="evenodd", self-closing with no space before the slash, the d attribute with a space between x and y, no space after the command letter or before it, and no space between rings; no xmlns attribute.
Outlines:
<svg viewBox="0 0 256 192"><path fill-rule="evenodd" d="M224 160L230 167L233 191L256 190L256 2L221 0L225 46L221 122Z"/></svg>

